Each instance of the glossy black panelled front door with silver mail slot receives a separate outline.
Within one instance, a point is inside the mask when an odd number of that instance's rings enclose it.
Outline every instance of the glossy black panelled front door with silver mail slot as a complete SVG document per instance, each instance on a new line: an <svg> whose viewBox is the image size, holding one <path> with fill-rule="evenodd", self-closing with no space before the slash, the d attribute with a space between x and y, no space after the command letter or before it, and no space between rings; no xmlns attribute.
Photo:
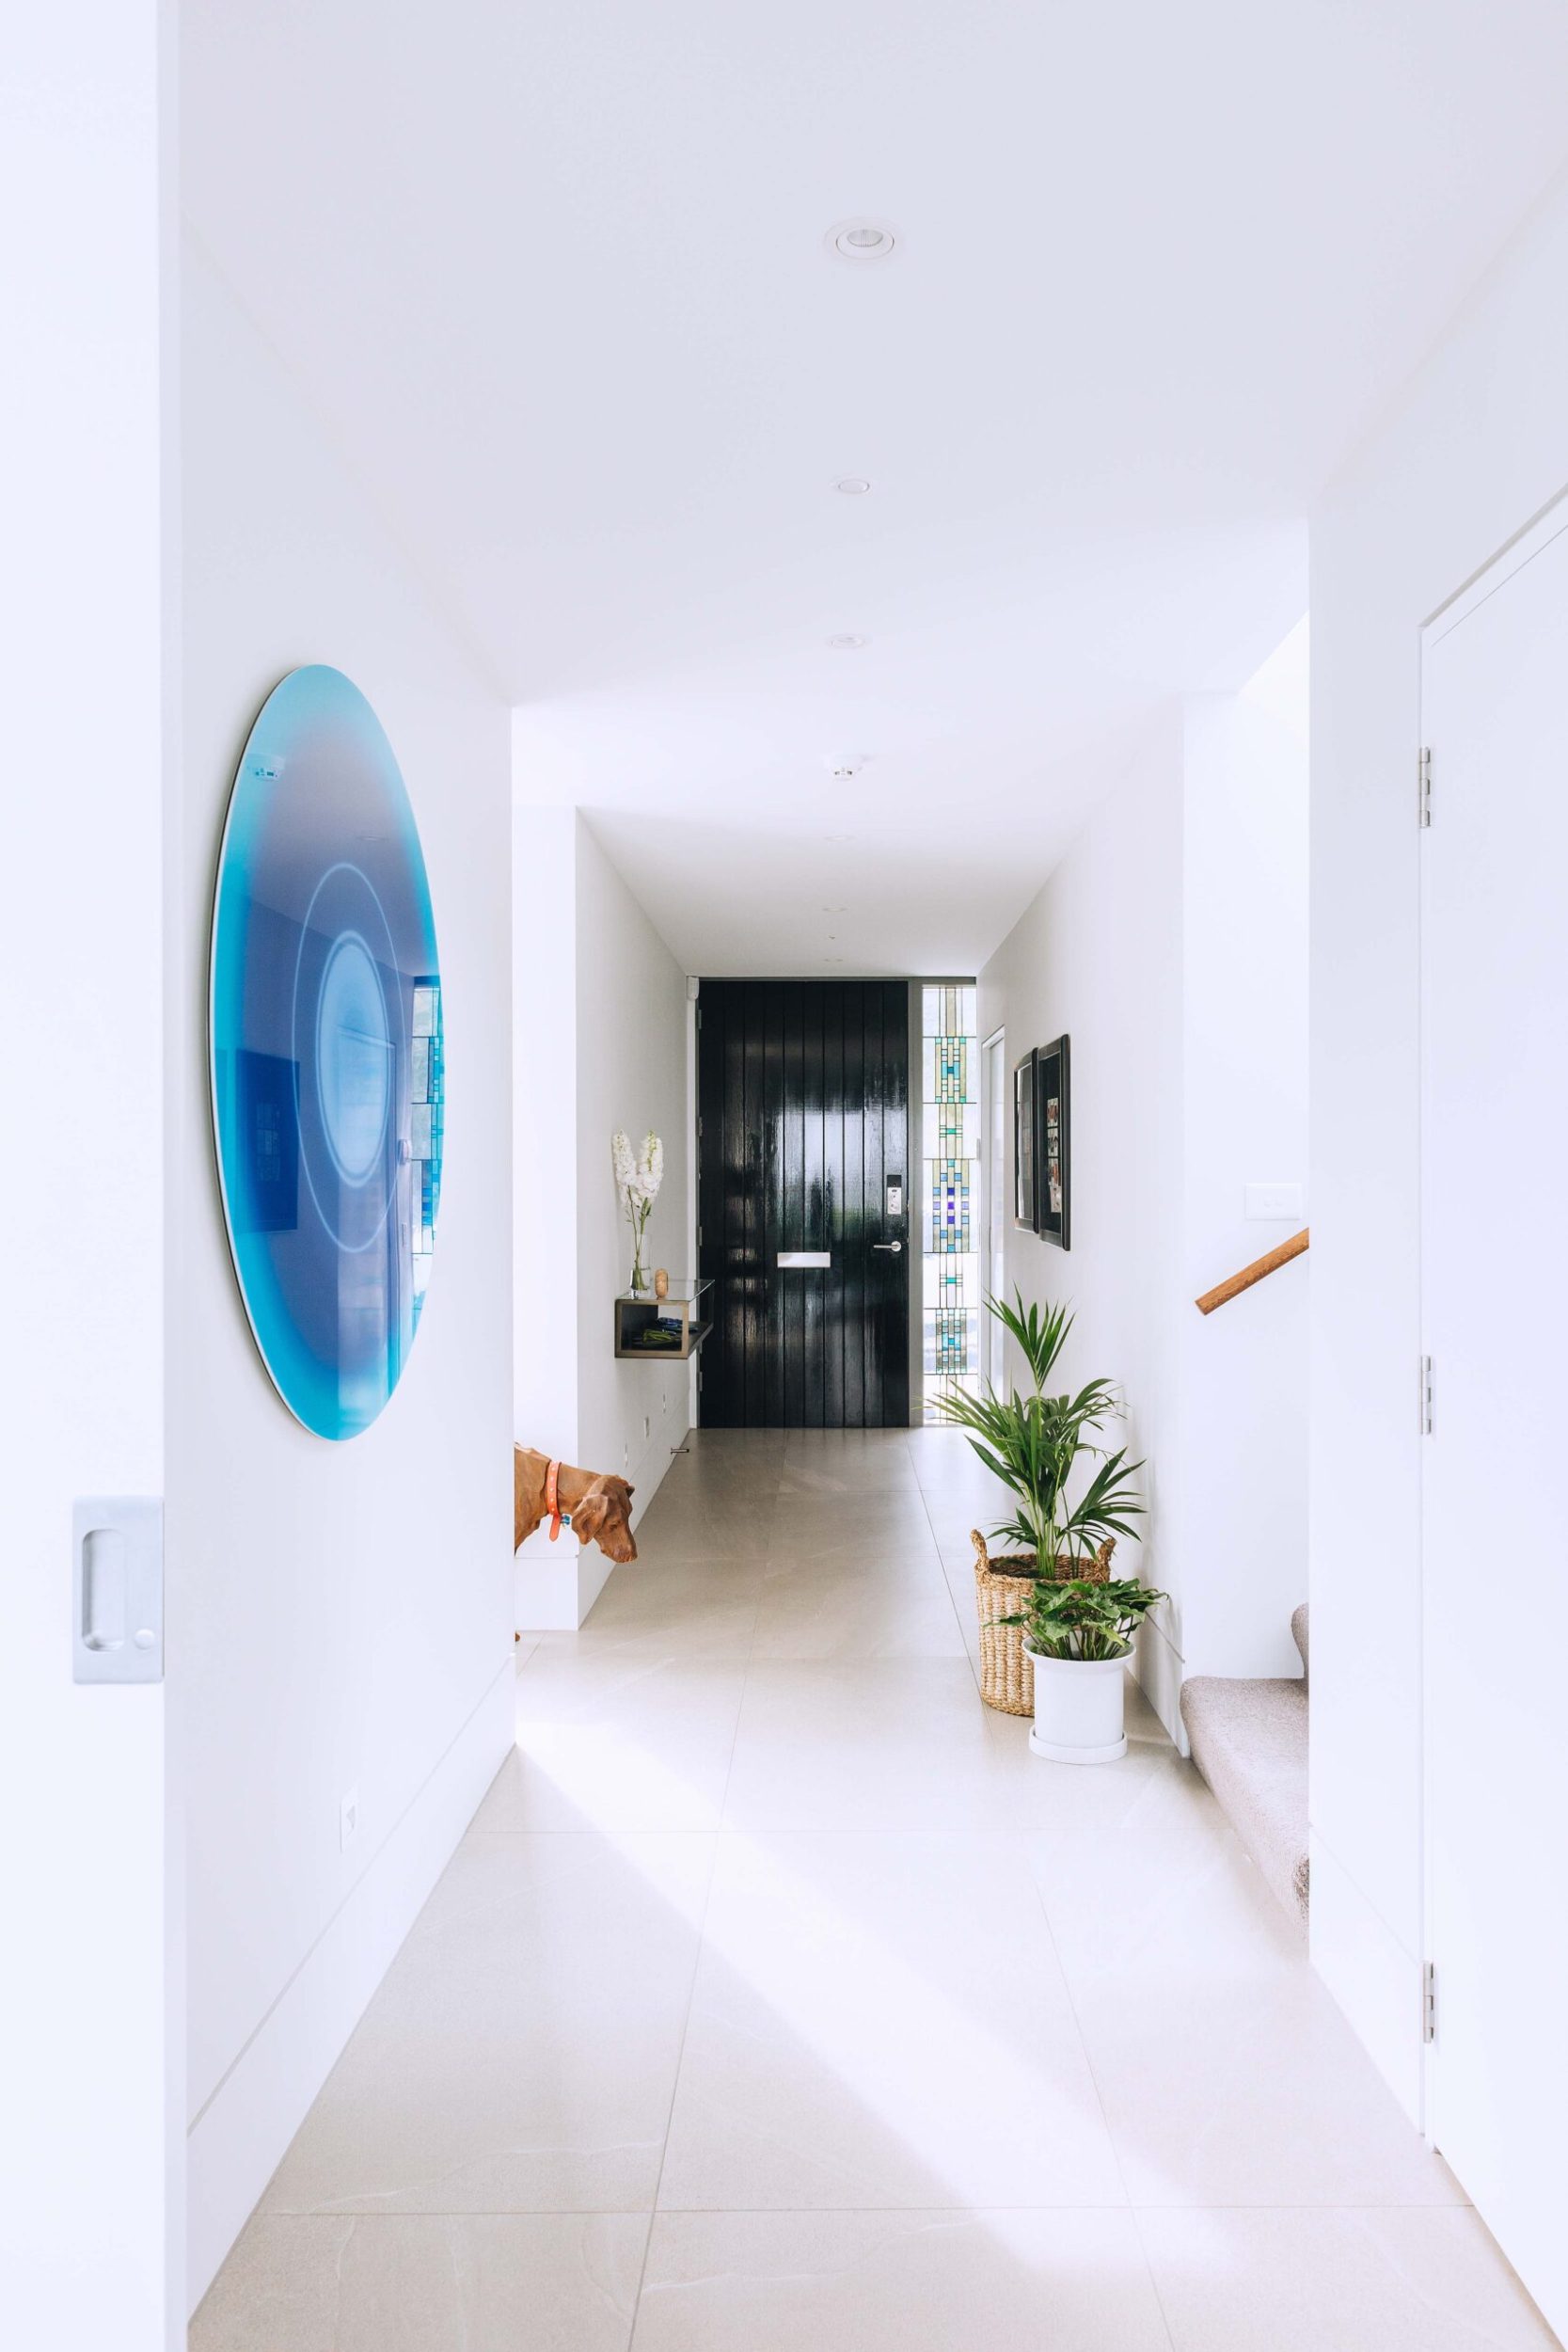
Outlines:
<svg viewBox="0 0 1568 2352"><path fill-rule="evenodd" d="M703 981L698 1122L703 1428L905 1428L907 983Z"/></svg>

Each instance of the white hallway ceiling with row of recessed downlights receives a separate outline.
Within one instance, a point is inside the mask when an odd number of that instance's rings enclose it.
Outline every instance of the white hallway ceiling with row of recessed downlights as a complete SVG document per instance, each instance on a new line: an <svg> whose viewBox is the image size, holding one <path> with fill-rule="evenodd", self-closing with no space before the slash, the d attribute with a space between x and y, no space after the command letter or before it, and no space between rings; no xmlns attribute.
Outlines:
<svg viewBox="0 0 1568 2352"><path fill-rule="evenodd" d="M181 111L520 790L686 969L966 971L1295 621L1563 89L1561 0L188 0Z"/></svg>

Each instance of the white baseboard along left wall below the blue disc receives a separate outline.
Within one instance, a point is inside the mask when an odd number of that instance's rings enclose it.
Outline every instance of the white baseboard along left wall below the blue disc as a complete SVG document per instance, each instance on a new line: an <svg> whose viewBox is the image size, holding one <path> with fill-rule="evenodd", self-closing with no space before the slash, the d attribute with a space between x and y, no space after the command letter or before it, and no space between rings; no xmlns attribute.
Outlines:
<svg viewBox="0 0 1568 2352"><path fill-rule="evenodd" d="M508 1658L190 2126L190 2310L252 2216L515 1738Z"/></svg>

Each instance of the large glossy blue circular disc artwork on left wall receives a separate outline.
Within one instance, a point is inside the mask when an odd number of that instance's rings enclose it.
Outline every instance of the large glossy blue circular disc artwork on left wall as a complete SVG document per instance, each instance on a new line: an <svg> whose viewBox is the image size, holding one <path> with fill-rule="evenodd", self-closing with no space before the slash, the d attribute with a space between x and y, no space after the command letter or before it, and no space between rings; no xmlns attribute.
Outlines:
<svg viewBox="0 0 1568 2352"><path fill-rule="evenodd" d="M212 1112L261 1359L317 1437L397 1388L442 1197L442 976L414 809L341 670L292 670L240 760L212 920Z"/></svg>

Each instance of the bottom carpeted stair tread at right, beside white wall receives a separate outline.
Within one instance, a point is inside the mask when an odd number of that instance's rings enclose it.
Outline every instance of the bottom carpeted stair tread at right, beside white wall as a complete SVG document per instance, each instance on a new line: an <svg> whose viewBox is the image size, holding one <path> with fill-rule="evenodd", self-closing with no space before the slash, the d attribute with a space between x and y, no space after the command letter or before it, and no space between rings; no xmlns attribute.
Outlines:
<svg viewBox="0 0 1568 2352"><path fill-rule="evenodd" d="M1302 1628L1305 1649L1305 1628ZM1307 1917L1307 1684L1194 1675L1192 1762L1286 1910Z"/></svg>

